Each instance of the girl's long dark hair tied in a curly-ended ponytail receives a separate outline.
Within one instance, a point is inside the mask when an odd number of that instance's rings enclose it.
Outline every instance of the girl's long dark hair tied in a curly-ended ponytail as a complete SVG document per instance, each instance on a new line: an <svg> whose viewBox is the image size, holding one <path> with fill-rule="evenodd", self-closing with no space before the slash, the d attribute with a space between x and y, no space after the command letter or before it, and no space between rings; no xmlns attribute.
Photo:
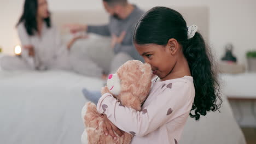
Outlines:
<svg viewBox="0 0 256 144"><path fill-rule="evenodd" d="M191 111L195 114L190 111L190 117L197 120L207 111L219 110L222 99L210 49L198 32L188 39L187 23L181 14L170 8L154 7L141 17L133 34L136 44L167 45L171 38L182 45L194 79L195 99Z"/></svg>

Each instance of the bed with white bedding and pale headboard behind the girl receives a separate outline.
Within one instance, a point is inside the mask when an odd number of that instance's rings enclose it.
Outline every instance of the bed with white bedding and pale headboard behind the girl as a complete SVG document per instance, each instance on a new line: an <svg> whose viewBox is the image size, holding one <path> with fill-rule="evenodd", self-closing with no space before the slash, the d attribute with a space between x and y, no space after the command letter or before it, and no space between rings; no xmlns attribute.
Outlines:
<svg viewBox="0 0 256 144"><path fill-rule="evenodd" d="M182 11L190 25L198 25L208 38L208 8L176 9ZM59 27L71 21L99 24L107 21L103 10L53 11L53 14ZM63 34L65 30L61 32ZM90 40L74 44L72 51L80 56L86 53L96 63L106 67L110 59L104 61L94 55L95 47L98 47L97 50L102 47L101 44L92 46L99 39L106 43L109 41L109 38L92 35ZM113 53L108 55L111 57ZM82 88L98 90L103 84L100 79L70 71L0 71L0 143L80 143L84 130L80 113L87 101ZM188 119L180 143L246 143L228 101L225 97L223 99L221 113L211 112L199 122Z"/></svg>

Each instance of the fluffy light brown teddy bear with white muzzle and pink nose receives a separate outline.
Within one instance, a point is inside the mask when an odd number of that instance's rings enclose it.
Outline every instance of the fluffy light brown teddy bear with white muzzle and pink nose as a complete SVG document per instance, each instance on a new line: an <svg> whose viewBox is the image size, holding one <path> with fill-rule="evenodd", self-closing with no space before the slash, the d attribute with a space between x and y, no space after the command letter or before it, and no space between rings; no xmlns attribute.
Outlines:
<svg viewBox="0 0 256 144"><path fill-rule="evenodd" d="M152 75L149 64L137 60L127 61L115 74L108 76L107 86L101 89L101 94L111 93L120 101L121 106L141 111L141 106L150 91ZM121 137L115 134L117 140L104 135L103 116L97 112L94 103L85 104L82 119L85 125L82 143L131 143L133 135L129 133L124 133Z"/></svg>

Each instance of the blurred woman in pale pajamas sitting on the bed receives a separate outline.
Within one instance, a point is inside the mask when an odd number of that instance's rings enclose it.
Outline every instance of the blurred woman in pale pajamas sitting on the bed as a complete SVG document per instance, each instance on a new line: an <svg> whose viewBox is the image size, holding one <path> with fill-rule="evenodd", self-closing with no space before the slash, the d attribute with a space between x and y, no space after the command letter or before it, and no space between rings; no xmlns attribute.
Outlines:
<svg viewBox="0 0 256 144"><path fill-rule="evenodd" d="M46 0L26 0L24 11L17 24L22 45L21 57L3 57L2 68L5 70L72 70L89 76L102 76L101 68L86 56L78 59L69 52L77 39L63 44L57 29L51 24Z"/></svg>

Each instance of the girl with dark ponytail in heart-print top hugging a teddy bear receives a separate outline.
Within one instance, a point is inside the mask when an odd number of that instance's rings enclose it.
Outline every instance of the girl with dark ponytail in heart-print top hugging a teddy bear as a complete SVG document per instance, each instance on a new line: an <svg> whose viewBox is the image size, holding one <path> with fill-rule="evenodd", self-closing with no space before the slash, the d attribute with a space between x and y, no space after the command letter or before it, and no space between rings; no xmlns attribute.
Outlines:
<svg viewBox="0 0 256 144"><path fill-rule="evenodd" d="M133 40L158 78L140 112L119 106L110 93L102 95L97 111L105 115L104 132L117 139L113 130L123 130L135 136L132 143L178 143L189 115L198 120L222 102L211 54L197 26L187 27L181 14L165 7L141 17Z"/></svg>

